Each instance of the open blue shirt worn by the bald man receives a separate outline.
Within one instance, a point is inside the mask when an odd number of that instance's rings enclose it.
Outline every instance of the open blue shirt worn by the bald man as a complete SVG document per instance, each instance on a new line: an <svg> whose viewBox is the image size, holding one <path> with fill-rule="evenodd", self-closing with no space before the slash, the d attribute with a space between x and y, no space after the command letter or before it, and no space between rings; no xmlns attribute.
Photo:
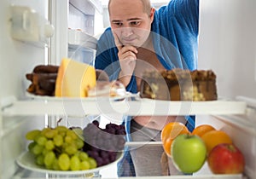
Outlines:
<svg viewBox="0 0 256 179"><path fill-rule="evenodd" d="M199 0L171 0L166 6L155 11L151 25L154 52L166 70L183 68L192 71L197 68L198 28ZM98 40L95 67L107 72L110 80L119 77L118 49L110 27ZM134 76L126 90L137 93ZM195 127L195 117L186 118L186 125L191 131ZM125 118L128 141L131 140L130 120L131 117Z"/></svg>

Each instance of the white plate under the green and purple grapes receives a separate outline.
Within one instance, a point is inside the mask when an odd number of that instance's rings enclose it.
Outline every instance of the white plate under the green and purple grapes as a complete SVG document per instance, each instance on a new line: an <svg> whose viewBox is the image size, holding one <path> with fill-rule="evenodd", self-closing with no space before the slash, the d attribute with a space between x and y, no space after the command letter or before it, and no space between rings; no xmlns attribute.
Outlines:
<svg viewBox="0 0 256 179"><path fill-rule="evenodd" d="M32 170L32 171L38 171L41 173L48 173L48 174L55 174L55 175L83 175L83 174L93 174L96 173L99 170L105 169L109 166L112 165L117 165L117 163L120 161L120 159L123 158L124 153L118 153L117 155L117 159L108 164L108 165L103 165L100 167L97 167L95 169L91 169L91 170L47 170L42 166L36 165L35 164L35 159L32 153L29 153L28 151L25 153L22 153L18 159L16 159L16 162L18 165L20 165L20 167L26 169L26 170Z"/></svg>

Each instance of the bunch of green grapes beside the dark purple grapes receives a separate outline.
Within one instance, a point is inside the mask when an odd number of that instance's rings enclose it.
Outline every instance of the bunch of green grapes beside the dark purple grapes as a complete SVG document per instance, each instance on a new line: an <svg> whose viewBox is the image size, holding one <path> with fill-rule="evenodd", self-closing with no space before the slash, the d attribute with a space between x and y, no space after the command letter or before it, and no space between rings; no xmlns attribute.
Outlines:
<svg viewBox="0 0 256 179"><path fill-rule="evenodd" d="M83 151L83 130L65 126L31 130L26 133L30 140L29 152L37 165L49 170L90 170L96 168L96 160Z"/></svg>

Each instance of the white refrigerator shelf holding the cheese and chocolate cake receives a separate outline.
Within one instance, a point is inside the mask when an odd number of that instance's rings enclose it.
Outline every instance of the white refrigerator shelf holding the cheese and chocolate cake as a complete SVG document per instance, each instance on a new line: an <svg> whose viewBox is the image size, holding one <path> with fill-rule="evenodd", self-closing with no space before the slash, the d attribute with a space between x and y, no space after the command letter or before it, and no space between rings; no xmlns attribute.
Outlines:
<svg viewBox="0 0 256 179"><path fill-rule="evenodd" d="M243 114L246 111L244 101L155 101L139 99L127 101L111 98L63 98L55 100L14 101L3 107L3 115L67 115L84 117L87 115L230 115Z"/></svg>

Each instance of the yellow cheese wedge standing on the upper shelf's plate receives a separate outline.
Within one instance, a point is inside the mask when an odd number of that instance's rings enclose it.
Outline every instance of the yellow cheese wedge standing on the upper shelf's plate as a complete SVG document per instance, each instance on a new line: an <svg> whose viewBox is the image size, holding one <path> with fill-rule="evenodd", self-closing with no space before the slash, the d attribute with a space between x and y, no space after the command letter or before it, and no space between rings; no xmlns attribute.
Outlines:
<svg viewBox="0 0 256 179"><path fill-rule="evenodd" d="M87 97L96 86L96 70L88 64L64 58L55 83L56 97Z"/></svg>

